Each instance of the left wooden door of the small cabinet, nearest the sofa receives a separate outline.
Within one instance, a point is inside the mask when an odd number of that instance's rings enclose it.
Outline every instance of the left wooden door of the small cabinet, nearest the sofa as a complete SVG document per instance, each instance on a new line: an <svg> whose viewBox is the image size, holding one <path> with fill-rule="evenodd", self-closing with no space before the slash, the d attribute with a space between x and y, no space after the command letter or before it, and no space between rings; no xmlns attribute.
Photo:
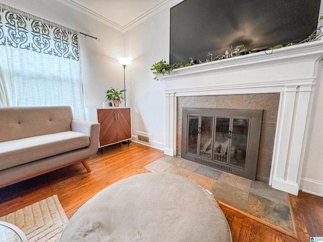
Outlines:
<svg viewBox="0 0 323 242"><path fill-rule="evenodd" d="M100 146L118 142L118 120L115 109L97 109L97 120L100 123Z"/></svg>

